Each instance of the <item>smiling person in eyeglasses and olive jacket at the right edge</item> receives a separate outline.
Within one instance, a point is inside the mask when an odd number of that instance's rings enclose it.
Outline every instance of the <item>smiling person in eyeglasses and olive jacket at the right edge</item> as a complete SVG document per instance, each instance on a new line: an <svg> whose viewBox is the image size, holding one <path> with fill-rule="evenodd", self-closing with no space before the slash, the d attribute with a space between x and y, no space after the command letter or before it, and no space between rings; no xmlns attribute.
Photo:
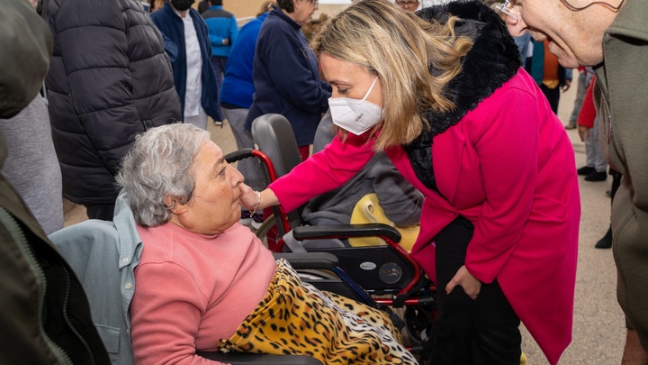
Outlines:
<svg viewBox="0 0 648 365"><path fill-rule="evenodd" d="M638 0L513 0L509 31L549 40L566 68L592 66L599 139L623 175L612 205L617 299L628 328L623 364L648 363L648 3Z"/></svg>

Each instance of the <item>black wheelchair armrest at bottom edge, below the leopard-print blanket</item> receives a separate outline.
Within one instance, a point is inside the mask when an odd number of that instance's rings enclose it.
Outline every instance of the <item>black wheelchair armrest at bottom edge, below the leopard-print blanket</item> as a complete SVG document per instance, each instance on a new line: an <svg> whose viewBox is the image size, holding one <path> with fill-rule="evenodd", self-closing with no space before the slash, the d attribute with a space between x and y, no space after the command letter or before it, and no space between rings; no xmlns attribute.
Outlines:
<svg viewBox="0 0 648 365"><path fill-rule="evenodd" d="M226 362L231 365L322 365L320 360L302 355L269 355L266 353L246 352L203 352L196 355L207 360Z"/></svg>

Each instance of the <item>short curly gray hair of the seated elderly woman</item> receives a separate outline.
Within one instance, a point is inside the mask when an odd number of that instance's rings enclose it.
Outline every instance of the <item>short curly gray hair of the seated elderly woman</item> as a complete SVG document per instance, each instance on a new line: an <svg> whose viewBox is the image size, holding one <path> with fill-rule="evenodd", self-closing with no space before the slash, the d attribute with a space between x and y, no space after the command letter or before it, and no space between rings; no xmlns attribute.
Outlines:
<svg viewBox="0 0 648 365"><path fill-rule="evenodd" d="M173 205L165 204L165 196L179 204L191 200L191 166L205 141L210 141L209 132L184 123L152 128L135 138L116 181L128 194L138 224L155 227L171 220Z"/></svg>

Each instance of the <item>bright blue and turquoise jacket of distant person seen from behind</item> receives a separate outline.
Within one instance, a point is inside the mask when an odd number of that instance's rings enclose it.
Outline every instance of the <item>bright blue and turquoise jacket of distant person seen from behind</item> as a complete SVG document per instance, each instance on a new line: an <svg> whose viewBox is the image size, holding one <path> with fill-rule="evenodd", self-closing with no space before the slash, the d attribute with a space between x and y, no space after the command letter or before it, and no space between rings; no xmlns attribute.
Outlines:
<svg viewBox="0 0 648 365"><path fill-rule="evenodd" d="M225 11L222 5L213 5L202 13L202 17L207 23L209 31L211 56L228 57L231 45L234 44L238 35L236 16ZM227 45L223 44L224 39L229 40Z"/></svg>

